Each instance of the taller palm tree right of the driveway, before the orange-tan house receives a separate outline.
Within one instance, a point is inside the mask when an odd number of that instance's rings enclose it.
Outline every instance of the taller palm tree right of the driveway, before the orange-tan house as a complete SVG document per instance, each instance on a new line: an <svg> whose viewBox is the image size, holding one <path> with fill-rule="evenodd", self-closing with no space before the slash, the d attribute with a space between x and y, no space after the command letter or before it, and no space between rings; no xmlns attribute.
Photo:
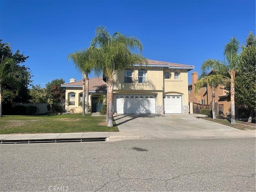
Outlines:
<svg viewBox="0 0 256 192"><path fill-rule="evenodd" d="M224 48L224 61L208 59L201 66L200 80L196 82L195 93L199 88L209 85L216 88L218 85L230 85L230 101L231 101L231 124L235 123L235 75L240 70L240 55L238 53L239 42L236 38L231 38ZM211 74L208 72L211 70Z"/></svg>

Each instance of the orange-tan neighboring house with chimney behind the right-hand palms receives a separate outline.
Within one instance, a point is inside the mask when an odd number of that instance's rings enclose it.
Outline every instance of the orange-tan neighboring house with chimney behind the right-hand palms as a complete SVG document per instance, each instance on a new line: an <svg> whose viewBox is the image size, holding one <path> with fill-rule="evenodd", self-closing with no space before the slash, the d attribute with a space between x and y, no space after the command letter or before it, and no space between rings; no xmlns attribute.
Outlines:
<svg viewBox="0 0 256 192"><path fill-rule="evenodd" d="M198 94L194 94L195 90L195 84L198 80L198 73L193 72L192 74L192 84L188 85L188 97L189 102L204 104L204 105L210 105L212 102L212 88L210 86L202 87ZM223 114L220 114L222 116L226 116L226 112L230 112L230 99L228 95L225 93L226 90L221 89L223 86L218 86L215 92L215 100L218 102L218 104L223 104Z"/></svg>

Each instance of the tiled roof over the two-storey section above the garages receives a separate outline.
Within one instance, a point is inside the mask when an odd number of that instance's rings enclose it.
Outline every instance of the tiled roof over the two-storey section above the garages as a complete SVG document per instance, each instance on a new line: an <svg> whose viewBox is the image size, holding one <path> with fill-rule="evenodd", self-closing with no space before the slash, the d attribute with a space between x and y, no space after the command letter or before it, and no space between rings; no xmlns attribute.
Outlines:
<svg viewBox="0 0 256 192"><path fill-rule="evenodd" d="M134 66L141 66L141 65L134 64ZM142 65L142 66L146 66L146 65ZM184 65L184 64L178 64L178 63L150 60L150 59L148 59L148 66L150 66L150 67L168 67L169 69L186 69L188 71L195 68L192 65Z"/></svg>

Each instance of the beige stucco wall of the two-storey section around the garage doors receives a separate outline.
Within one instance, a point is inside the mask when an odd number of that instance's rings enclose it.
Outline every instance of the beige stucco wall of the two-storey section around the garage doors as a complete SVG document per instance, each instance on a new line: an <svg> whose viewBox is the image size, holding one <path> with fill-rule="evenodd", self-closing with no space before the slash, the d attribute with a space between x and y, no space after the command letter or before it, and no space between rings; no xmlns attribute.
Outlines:
<svg viewBox="0 0 256 192"><path fill-rule="evenodd" d="M146 83L138 83L138 70L132 70L132 83L124 83L124 71L116 74L114 94L153 94L156 95L156 105L163 105L164 95L182 95L182 104L188 105L188 72L187 70L170 70L163 68L148 68ZM169 72L170 78L164 79L164 72ZM174 73L179 73L179 79L174 79Z"/></svg>

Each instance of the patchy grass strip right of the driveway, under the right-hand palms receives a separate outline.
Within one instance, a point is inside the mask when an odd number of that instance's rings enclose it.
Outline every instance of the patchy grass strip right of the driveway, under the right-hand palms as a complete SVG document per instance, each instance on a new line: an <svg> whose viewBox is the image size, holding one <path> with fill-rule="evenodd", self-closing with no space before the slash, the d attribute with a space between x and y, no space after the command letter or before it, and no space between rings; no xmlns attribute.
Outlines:
<svg viewBox="0 0 256 192"><path fill-rule="evenodd" d="M235 121L236 122L235 125L232 125L230 123L230 119L226 119L226 118L216 118L215 120L213 120L212 118L209 118L209 117L203 117L202 119L216 122L222 125L230 126L240 130L255 130L255 127L256 127L255 123L247 123L247 122L238 121L238 120Z"/></svg>

